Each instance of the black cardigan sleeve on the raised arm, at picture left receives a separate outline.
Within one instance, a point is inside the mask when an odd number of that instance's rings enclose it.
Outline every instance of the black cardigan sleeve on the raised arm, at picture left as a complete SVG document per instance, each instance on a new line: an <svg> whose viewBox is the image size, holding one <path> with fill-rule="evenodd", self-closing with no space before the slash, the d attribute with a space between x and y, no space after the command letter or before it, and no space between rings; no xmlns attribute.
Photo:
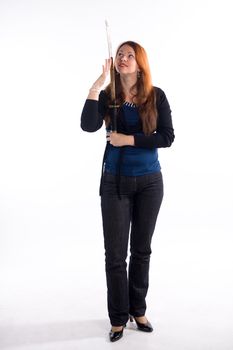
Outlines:
<svg viewBox="0 0 233 350"><path fill-rule="evenodd" d="M100 92L99 100L87 99L81 114L81 128L84 131L94 132L103 125L103 118L106 111L106 94Z"/></svg>

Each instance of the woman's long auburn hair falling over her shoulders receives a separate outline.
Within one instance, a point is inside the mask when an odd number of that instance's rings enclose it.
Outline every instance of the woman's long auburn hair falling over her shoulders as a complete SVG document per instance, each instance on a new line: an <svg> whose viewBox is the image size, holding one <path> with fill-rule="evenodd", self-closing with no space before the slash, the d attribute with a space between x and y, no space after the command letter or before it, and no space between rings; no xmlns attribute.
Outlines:
<svg viewBox="0 0 233 350"><path fill-rule="evenodd" d="M133 95L133 102L137 105L139 115L142 121L143 132L145 135L151 134L156 130L158 112L156 109L156 95L152 85L151 73L147 54L145 49L134 41L125 41L119 45L118 51L123 45L129 45L135 52L135 59L140 70L140 76L137 78L135 85L130 89L131 92L136 91ZM125 100L125 95L121 85L120 74L114 66L115 84L116 84L116 103L122 105ZM105 88L109 103L111 100L111 83ZM105 122L110 123L110 117L105 117Z"/></svg>

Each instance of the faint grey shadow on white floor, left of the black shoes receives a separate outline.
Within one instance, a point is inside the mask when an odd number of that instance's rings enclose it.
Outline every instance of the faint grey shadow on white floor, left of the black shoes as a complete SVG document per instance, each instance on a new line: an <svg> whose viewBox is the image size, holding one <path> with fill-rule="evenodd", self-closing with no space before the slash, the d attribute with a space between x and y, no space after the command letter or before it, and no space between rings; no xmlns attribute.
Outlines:
<svg viewBox="0 0 233 350"><path fill-rule="evenodd" d="M105 338L108 320L67 321L0 327L0 348L84 338Z"/></svg>

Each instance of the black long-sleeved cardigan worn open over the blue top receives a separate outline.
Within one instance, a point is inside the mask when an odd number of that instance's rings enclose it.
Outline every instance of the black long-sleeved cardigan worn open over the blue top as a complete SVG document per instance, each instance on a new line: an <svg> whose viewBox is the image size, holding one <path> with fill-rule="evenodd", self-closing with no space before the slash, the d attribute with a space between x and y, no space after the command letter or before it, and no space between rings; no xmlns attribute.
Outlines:
<svg viewBox="0 0 233 350"><path fill-rule="evenodd" d="M129 129L125 123L122 109L119 108L118 111L117 131L123 134L133 135L136 147L150 149L170 147L175 138L171 109L166 95L159 87L154 87L154 90L156 93L158 120L156 131L151 135L134 135L135 133L142 132L141 121L136 127ZM99 130L103 125L103 118L107 111L108 105L105 91L100 92L99 101L87 99L81 114L81 128L88 132Z"/></svg>

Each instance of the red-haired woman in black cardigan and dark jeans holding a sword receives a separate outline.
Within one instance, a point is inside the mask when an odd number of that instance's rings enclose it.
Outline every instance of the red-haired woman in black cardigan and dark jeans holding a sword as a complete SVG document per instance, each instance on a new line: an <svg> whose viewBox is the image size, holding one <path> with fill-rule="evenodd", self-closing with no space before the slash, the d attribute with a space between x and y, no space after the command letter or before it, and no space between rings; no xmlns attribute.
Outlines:
<svg viewBox="0 0 233 350"><path fill-rule="evenodd" d="M107 145L100 185L103 220L110 341L123 336L130 317L137 328L152 332L145 316L149 285L151 240L163 198L163 180L158 151L174 140L171 110L165 93L153 87L148 59L141 45L122 43L114 70L116 127L112 130L110 84L111 59L90 88L83 107L81 128L97 131L105 122ZM130 233L130 261L127 249Z"/></svg>

